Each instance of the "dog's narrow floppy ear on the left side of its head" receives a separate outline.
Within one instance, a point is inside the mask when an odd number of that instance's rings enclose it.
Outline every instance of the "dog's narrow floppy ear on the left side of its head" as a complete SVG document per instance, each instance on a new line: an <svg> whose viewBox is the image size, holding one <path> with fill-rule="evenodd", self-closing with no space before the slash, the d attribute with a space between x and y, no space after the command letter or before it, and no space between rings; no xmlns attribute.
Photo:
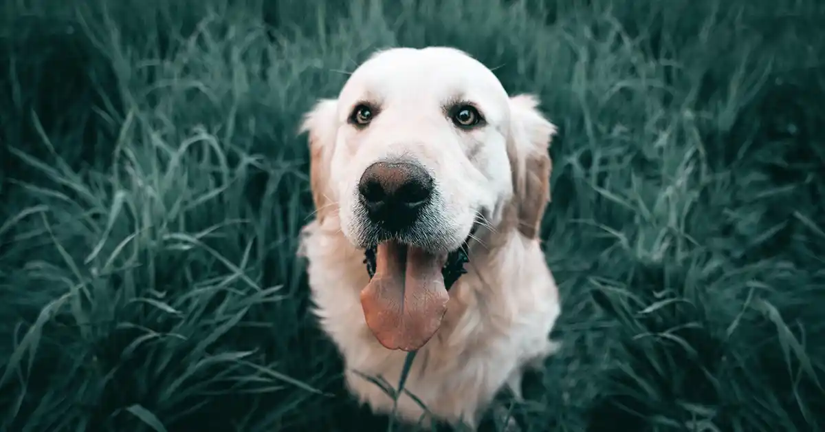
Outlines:
<svg viewBox="0 0 825 432"><path fill-rule="evenodd" d="M338 210L337 197L329 183L332 151L335 150L337 101L321 99L305 116L299 134L309 132L309 187L318 222Z"/></svg>

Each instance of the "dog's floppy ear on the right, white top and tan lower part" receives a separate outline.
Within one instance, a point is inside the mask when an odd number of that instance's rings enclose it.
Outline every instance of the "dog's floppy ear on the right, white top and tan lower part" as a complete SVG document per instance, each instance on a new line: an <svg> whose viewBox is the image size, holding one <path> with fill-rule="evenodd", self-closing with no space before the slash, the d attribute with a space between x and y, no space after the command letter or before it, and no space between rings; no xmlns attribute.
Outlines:
<svg viewBox="0 0 825 432"><path fill-rule="evenodd" d="M512 169L513 199L508 219L528 239L540 234L544 208L550 201L550 140L556 126L537 109L538 99L519 95L510 99L511 127L507 155Z"/></svg>

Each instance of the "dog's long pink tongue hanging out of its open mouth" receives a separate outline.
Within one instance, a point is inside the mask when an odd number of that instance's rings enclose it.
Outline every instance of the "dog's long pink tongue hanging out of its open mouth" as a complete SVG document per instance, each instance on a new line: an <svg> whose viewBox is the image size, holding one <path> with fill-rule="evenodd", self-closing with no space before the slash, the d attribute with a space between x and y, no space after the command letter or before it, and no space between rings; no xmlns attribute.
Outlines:
<svg viewBox="0 0 825 432"><path fill-rule="evenodd" d="M366 325L388 349L413 351L441 326L450 295L441 268L445 255L394 241L378 245L375 276L361 290Z"/></svg>

